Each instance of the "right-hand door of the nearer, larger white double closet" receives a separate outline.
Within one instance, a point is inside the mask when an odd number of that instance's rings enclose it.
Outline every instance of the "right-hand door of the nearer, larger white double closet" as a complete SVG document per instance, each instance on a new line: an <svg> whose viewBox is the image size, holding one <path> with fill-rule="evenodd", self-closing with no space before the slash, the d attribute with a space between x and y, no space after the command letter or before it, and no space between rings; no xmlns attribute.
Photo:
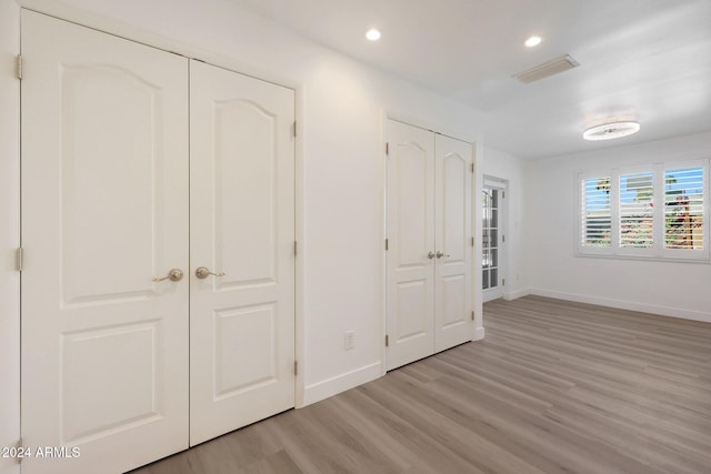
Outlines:
<svg viewBox="0 0 711 474"><path fill-rule="evenodd" d="M194 445L294 406L294 93L196 61L190 87Z"/></svg>

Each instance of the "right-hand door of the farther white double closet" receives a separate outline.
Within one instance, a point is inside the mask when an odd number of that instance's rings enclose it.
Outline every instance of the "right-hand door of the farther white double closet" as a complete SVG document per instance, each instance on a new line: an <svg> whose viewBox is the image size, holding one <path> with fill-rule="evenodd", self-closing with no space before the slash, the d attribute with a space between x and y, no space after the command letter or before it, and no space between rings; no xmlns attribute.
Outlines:
<svg viewBox="0 0 711 474"><path fill-rule="evenodd" d="M470 143L435 138L435 351L471 341L471 185Z"/></svg>

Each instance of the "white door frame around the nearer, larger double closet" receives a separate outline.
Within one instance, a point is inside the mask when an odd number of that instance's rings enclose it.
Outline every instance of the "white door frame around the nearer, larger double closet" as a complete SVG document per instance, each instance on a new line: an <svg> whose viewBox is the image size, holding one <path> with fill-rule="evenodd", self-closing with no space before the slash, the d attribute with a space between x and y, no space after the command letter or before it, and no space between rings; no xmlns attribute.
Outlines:
<svg viewBox="0 0 711 474"><path fill-rule="evenodd" d="M177 53L186 58L200 59L204 62L218 65L220 68L229 69L241 74L248 74L261 80L273 82L276 84L283 85L294 91L294 115L298 123L303 123L303 84L294 81L290 77L276 75L273 71L250 68L237 59L228 58L222 54L207 51L202 48L184 43L179 40L166 38L161 34L157 34L149 30L137 28L114 19L103 17L101 14L93 13L77 7L72 7L62 2L52 2L46 0L12 0L3 2L0 7L0 16L2 29L0 32L0 48L11 52L13 56L21 52L20 44L20 11L22 8L33 10L40 13L49 14L61 20L74 22L88 28L93 28L99 31L103 31L108 34L119 36L121 38L129 39L131 41L140 42L152 48L161 49L167 52ZM8 65L12 68L14 64ZM14 75L14 71L7 71ZM8 222L7 230L3 231L0 239L4 243L9 240L8 244L3 248L13 249L21 245L20 239L20 179L19 179L19 165L20 165L20 81L17 84L6 87L4 84L0 89L0 93L7 99L8 104L11 107L4 108L0 111L0 121L3 124L0 133L3 135L2 155L9 160L2 162L2 177L8 177L7 185L2 186L2 208L0 209L0 218L2 222ZM299 129L303 129L301 125ZM7 140L4 139L7 134ZM12 158L17 158L13 163ZM9 169L6 170L6 164ZM16 168L12 168L16 167ZM7 173L6 173L7 171ZM303 169L303 138L301 133L297 133L294 140L294 234L298 242L298 254L294 261L294 357L299 362L299 371L294 382L294 405L297 409L304 406L304 365L306 365L306 327L304 327L304 256L308 253L308 246L306 245L306 230L304 230L304 169ZM4 183L3 183L4 184ZM17 203L17 205L14 204ZM6 239L9 235L9 239ZM2 399L8 400L8 405L11 406L11 417L9 423L3 424L12 431L12 437L16 440L9 440L9 445L19 443L21 435L20 424L20 274L14 268L14 252L8 254L6 258L4 266L2 266L2 275L0 280L0 291L4 299L6 293L9 297L6 301L8 307L13 311L2 312L3 320L0 321L2 325L7 325L10 331L3 331L0 333L0 346L9 354L17 354L17 363L12 363L9 371L2 373L2 384L0 386ZM7 319L7 321L6 321ZM4 327L3 327L4 329ZM10 357L10 361L16 359ZM7 360L7 359L4 359ZM6 379L8 377L8 384L6 385ZM16 418L16 420L13 420ZM17 427L16 427L17 426ZM0 432L1 436L6 436L6 433ZM4 443L4 438L0 438ZM0 464L0 468L4 467ZM11 467L12 470L12 467ZM19 472L19 470L17 471ZM4 474L4 473L3 473ZM8 474L14 474L10 471Z"/></svg>

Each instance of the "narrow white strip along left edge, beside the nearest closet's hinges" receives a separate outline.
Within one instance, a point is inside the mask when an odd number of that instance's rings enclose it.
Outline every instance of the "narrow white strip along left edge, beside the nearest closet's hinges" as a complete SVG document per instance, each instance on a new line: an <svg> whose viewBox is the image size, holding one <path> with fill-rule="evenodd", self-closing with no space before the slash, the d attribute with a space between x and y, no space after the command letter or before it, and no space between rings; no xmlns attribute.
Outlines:
<svg viewBox="0 0 711 474"><path fill-rule="evenodd" d="M0 448L20 440L20 274L14 251L20 244L18 8L0 2ZM12 458L0 457L0 473L18 473Z"/></svg>

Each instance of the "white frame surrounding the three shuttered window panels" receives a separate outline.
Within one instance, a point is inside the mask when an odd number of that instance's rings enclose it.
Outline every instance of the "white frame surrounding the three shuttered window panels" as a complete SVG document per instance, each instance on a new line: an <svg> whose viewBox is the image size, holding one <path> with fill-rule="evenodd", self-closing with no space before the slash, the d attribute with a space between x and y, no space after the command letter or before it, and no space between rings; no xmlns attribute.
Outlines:
<svg viewBox="0 0 711 474"><path fill-rule="evenodd" d="M701 168L703 170L703 223L702 223L702 249L667 249L665 248L665 173L671 170L681 170L688 168ZM594 171L584 171L575 173L575 256L595 256L595 258L613 258L613 259L635 259L635 260L654 260L654 261L677 261L677 262L697 262L711 263L710 253L710 159L690 159L679 161L657 162L649 164L599 169ZM649 248L624 248L620 245L621 229L621 177L624 174L653 173L653 224L652 224L652 242ZM585 202L583 202L585 180L602 179L610 177L610 245L585 245Z"/></svg>

